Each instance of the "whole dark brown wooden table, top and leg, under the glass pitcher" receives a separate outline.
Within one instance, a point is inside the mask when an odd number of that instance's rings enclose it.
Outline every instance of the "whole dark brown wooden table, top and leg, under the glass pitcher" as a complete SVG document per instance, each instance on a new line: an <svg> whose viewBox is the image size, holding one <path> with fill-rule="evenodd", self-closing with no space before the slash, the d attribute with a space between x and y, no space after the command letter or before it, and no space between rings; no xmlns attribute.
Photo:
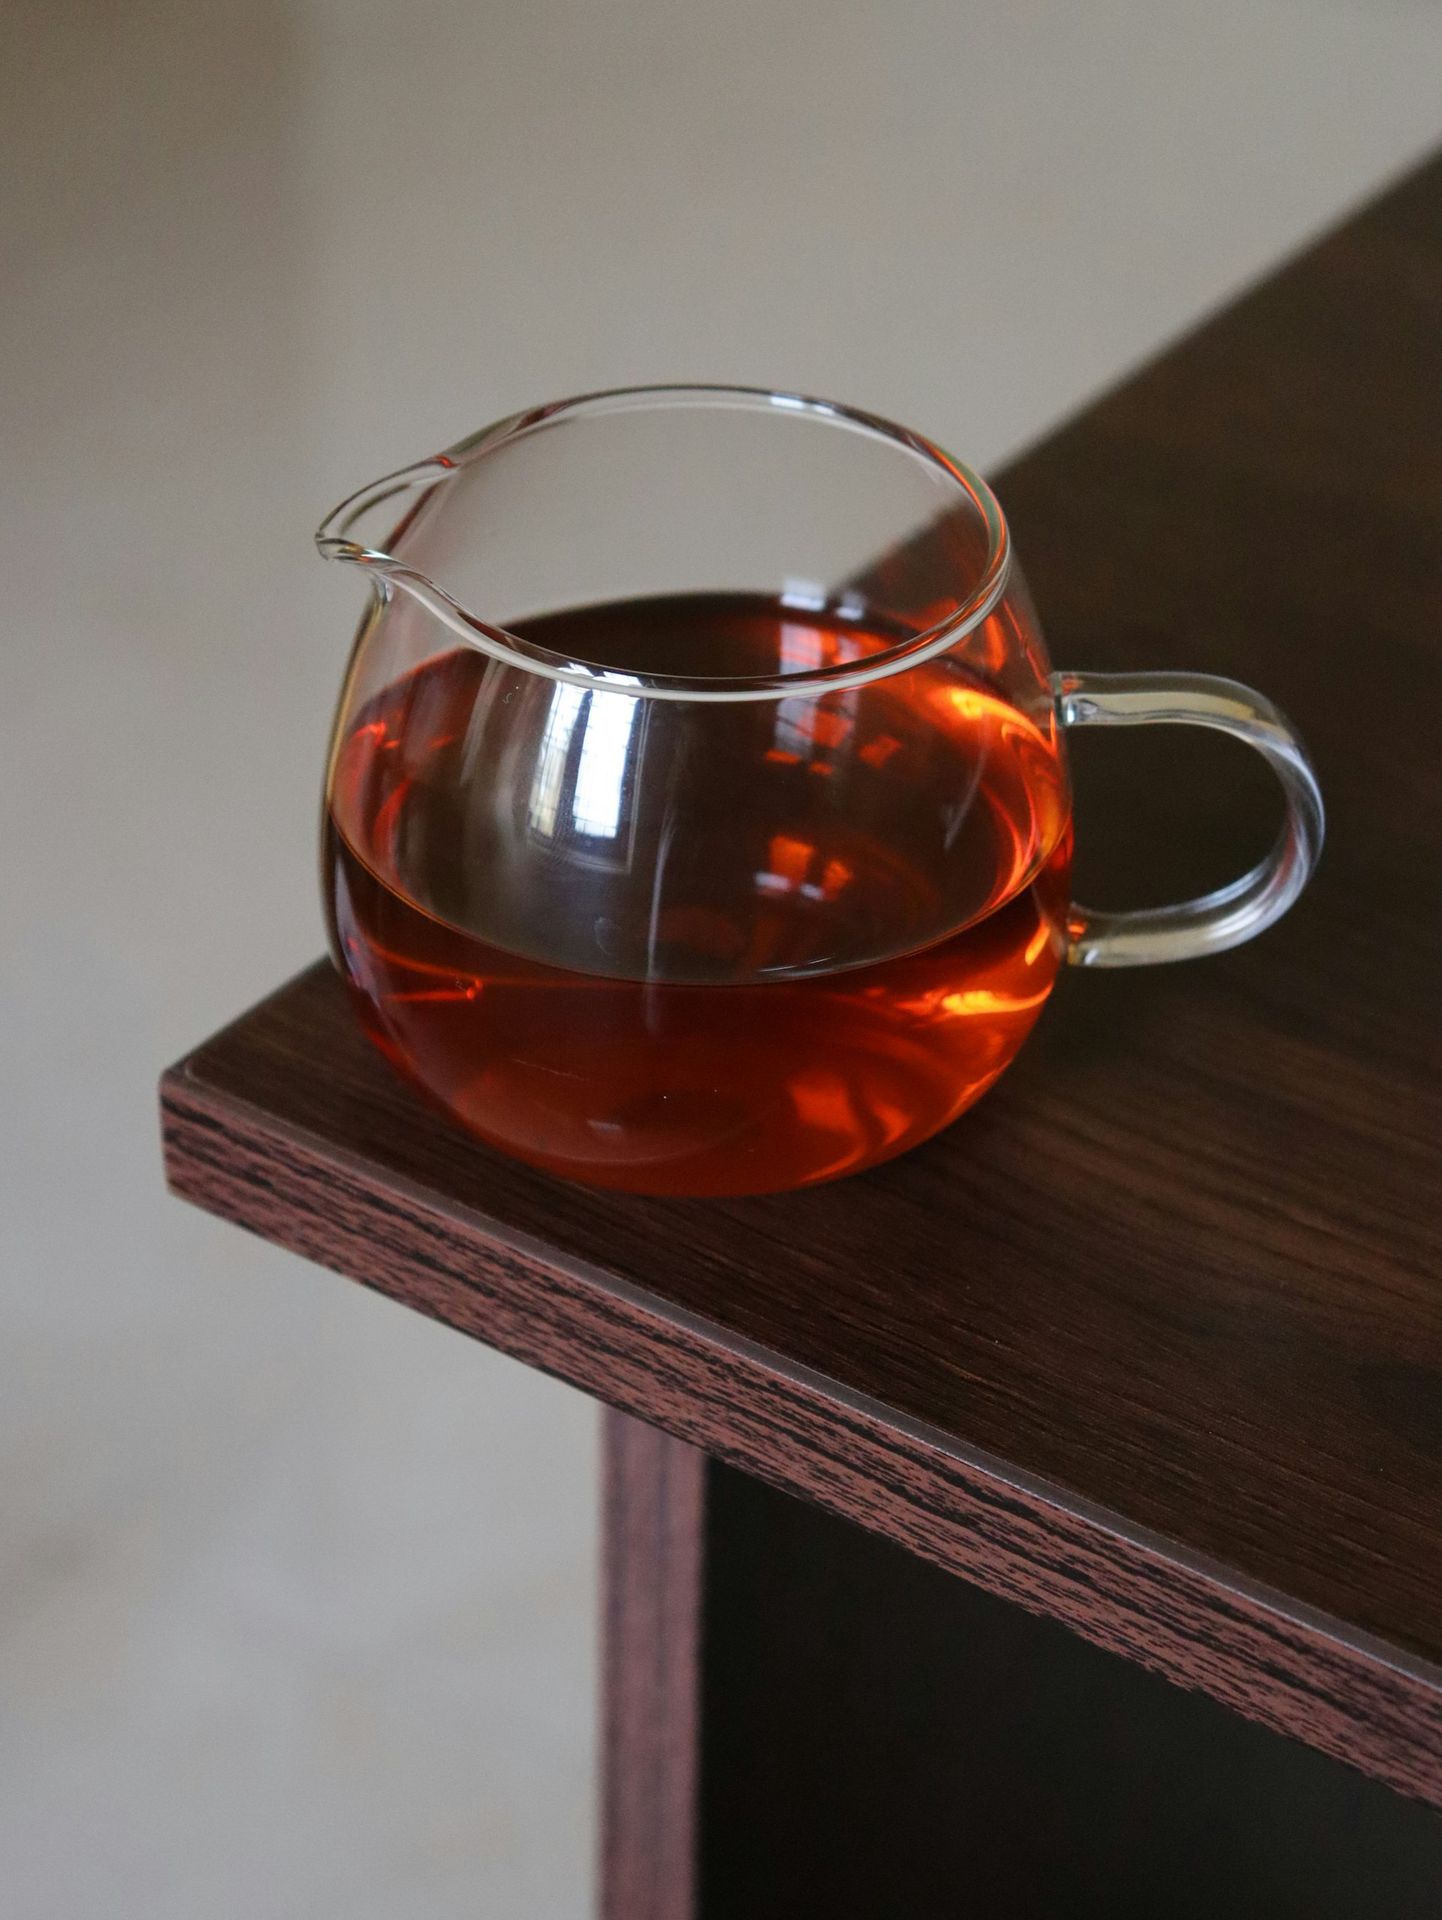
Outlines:
<svg viewBox="0 0 1442 1920"><path fill-rule="evenodd" d="M1300 724L1283 927L1069 977L943 1139L735 1202L470 1144L321 964L167 1073L169 1177L616 1409L613 1920L1432 1916L1442 163L997 484L1060 664ZM1227 743L1079 749L1085 899L1265 843Z"/></svg>

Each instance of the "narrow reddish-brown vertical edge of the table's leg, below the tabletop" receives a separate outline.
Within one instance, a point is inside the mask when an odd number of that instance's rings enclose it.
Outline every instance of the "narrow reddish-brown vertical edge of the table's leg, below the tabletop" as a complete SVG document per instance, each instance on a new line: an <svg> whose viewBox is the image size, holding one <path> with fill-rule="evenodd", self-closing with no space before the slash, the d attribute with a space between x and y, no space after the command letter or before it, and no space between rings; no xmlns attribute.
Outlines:
<svg viewBox="0 0 1442 1920"><path fill-rule="evenodd" d="M601 1916L695 1914L705 1455L603 1421Z"/></svg>

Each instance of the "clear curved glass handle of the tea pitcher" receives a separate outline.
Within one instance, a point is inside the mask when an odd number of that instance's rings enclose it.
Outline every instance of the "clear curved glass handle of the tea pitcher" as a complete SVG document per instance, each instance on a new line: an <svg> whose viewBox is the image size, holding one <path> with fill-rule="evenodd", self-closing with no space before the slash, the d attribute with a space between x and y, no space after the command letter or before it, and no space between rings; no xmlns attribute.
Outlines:
<svg viewBox="0 0 1442 1920"><path fill-rule="evenodd" d="M1073 906L1068 922L1073 966L1192 960L1240 947L1281 920L1317 864L1325 818L1306 747L1271 701L1214 674L1052 674L1052 693L1066 728L1208 726L1231 733L1267 760L1286 801L1286 818L1267 858L1215 893L1129 914Z"/></svg>

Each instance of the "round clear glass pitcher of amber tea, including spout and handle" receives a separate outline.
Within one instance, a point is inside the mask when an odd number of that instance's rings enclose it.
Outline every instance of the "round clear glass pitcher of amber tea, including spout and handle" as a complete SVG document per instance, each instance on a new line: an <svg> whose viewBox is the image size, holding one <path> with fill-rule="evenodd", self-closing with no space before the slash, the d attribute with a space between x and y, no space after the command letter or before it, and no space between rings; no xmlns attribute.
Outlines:
<svg viewBox="0 0 1442 1920"><path fill-rule="evenodd" d="M371 586L326 776L336 966L409 1081L568 1179L856 1173L993 1085L1064 962L1235 947L1317 858L1275 707L1052 672L985 482L851 407L538 407L317 541ZM1154 722L1256 747L1283 829L1206 899L1091 912L1064 735Z"/></svg>

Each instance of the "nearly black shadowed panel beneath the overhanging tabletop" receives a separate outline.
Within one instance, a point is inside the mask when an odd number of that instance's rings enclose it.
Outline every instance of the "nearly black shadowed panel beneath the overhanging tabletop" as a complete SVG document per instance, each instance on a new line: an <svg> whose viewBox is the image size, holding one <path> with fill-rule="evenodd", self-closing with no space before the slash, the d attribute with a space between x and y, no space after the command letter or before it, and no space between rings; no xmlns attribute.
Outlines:
<svg viewBox="0 0 1442 1920"><path fill-rule="evenodd" d="M1442 1912L1430 1807L751 1475L701 1511L709 1920Z"/></svg>

